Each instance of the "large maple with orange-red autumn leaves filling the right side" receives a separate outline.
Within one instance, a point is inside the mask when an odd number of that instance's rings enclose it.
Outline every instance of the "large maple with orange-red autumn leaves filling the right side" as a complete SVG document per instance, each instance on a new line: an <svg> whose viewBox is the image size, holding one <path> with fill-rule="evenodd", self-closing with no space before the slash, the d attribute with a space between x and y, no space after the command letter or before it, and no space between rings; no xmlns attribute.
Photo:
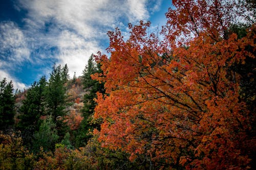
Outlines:
<svg viewBox="0 0 256 170"><path fill-rule="evenodd" d="M254 114L231 68L255 58L253 16L236 1L173 4L160 36L142 21L129 25L126 41L118 29L108 33L111 57L96 56L103 75L93 76L106 90L97 96L94 116L103 123L95 133L103 147L157 168L248 168ZM242 38L230 31L236 19L249 24Z"/></svg>

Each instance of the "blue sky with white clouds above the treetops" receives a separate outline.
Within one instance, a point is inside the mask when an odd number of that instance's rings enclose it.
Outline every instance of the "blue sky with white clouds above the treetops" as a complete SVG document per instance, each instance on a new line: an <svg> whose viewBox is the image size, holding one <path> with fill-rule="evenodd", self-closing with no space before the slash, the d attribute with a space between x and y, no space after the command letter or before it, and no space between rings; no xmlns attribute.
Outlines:
<svg viewBox="0 0 256 170"><path fill-rule="evenodd" d="M23 90L49 77L54 63L81 76L91 54L107 54L106 32L118 27L129 36L128 23L140 20L161 29L171 6L170 0L1 0L0 80Z"/></svg>

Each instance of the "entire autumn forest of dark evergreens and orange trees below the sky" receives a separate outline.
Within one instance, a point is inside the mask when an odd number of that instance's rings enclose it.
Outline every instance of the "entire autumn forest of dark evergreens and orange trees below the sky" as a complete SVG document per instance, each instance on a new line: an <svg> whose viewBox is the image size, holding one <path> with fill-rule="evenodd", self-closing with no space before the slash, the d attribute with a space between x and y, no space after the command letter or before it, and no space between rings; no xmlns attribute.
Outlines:
<svg viewBox="0 0 256 170"><path fill-rule="evenodd" d="M256 169L255 1L173 5L82 76L1 80L0 169Z"/></svg>

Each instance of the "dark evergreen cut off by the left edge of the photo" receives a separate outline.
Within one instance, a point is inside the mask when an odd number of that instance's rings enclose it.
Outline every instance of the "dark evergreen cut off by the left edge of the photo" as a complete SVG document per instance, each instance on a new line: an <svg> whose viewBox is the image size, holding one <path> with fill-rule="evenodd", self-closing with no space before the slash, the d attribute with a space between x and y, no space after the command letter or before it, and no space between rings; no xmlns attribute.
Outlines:
<svg viewBox="0 0 256 170"><path fill-rule="evenodd" d="M4 78L0 82L0 130L4 130L14 124L14 104L15 98L12 81L8 83L6 78Z"/></svg>

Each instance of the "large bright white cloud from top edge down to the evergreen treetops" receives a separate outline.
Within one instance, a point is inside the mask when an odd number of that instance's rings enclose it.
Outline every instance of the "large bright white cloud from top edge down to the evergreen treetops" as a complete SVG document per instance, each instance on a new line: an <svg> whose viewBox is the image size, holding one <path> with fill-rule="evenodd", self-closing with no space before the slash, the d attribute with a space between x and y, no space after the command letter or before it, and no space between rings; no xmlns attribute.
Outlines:
<svg viewBox="0 0 256 170"><path fill-rule="evenodd" d="M67 63L71 75L81 74L90 55L101 50L99 41L108 39L107 31L124 27L120 18L125 22L148 18L146 0L23 0L20 4L28 10L28 34L36 34L36 42L57 46L57 63ZM38 31L51 22L47 34Z"/></svg>

